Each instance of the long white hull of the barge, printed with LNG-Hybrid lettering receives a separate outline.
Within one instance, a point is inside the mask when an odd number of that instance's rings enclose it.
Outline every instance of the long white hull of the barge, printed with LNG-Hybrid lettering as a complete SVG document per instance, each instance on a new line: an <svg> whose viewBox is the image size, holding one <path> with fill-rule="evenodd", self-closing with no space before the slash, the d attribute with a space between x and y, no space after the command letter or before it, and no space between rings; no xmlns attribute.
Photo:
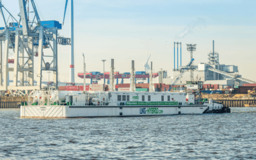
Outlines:
<svg viewBox="0 0 256 160"><path fill-rule="evenodd" d="M207 106L21 106L22 118L202 114Z"/></svg>

